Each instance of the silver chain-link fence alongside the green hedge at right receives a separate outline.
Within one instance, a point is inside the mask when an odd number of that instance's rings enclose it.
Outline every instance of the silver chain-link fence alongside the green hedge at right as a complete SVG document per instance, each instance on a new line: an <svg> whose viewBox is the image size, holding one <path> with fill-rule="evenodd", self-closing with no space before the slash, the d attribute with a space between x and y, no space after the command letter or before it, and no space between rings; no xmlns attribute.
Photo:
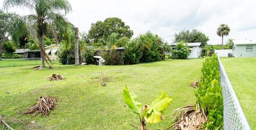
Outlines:
<svg viewBox="0 0 256 130"><path fill-rule="evenodd" d="M240 106L240 103L236 97L235 91L228 79L227 73L219 61L220 71L220 84L222 86L223 96L223 119L224 129L251 129L247 119L245 118L244 112Z"/></svg>

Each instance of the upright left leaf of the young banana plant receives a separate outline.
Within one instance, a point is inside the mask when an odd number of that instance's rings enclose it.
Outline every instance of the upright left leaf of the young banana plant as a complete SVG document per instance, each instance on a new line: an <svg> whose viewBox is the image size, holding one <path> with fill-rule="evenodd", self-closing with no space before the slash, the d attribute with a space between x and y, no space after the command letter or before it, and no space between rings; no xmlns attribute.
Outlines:
<svg viewBox="0 0 256 130"><path fill-rule="evenodd" d="M125 85L123 97L129 108L141 117L141 103L137 101L137 96L129 90L127 85Z"/></svg>

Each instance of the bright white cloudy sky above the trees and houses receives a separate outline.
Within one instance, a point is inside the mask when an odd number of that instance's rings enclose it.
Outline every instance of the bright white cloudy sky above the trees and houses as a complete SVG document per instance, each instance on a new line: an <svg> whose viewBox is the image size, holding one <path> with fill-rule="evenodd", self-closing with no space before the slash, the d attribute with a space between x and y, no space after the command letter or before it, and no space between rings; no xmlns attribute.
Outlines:
<svg viewBox="0 0 256 130"><path fill-rule="evenodd" d="M3 7L0 0L0 8ZM220 24L228 24L229 38L235 40L256 40L256 1L254 0L69 0L72 12L66 18L88 32L91 23L106 18L118 17L133 30L133 37L151 31L167 42L183 29L197 29L209 37L208 44L221 44L217 35ZM8 12L28 15L24 8L10 8Z"/></svg>

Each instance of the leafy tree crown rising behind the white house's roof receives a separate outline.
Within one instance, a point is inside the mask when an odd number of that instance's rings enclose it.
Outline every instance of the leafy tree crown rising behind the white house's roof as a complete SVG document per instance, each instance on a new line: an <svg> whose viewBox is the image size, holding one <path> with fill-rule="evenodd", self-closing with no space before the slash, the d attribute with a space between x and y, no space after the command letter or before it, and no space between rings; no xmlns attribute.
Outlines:
<svg viewBox="0 0 256 130"><path fill-rule="evenodd" d="M182 30L178 34L174 35L174 42L178 43L180 41L185 42L201 42L202 46L207 45L207 41L209 41L209 37L207 37L203 32L193 29Z"/></svg>

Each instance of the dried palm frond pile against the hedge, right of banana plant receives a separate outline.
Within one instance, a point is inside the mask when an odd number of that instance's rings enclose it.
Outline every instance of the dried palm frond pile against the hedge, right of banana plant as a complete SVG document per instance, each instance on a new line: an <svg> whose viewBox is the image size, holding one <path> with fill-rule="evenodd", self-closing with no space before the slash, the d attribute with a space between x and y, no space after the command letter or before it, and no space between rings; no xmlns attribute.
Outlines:
<svg viewBox="0 0 256 130"><path fill-rule="evenodd" d="M203 129L204 123L207 122L204 109L198 104L188 105L175 109L173 129Z"/></svg>

